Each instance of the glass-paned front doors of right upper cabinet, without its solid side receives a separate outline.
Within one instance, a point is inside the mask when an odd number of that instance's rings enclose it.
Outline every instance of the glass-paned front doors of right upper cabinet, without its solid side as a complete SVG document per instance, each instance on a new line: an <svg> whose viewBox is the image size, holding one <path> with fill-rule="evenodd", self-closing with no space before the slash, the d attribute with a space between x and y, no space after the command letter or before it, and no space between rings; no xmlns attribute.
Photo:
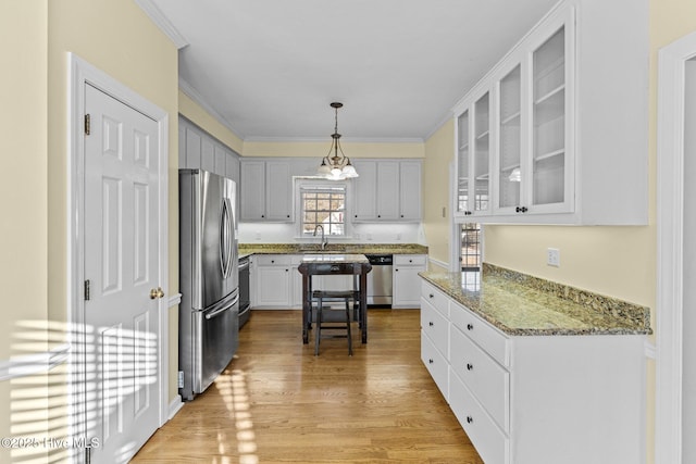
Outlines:
<svg viewBox="0 0 696 464"><path fill-rule="evenodd" d="M458 106L460 221L573 212L567 21L536 30Z"/></svg>

